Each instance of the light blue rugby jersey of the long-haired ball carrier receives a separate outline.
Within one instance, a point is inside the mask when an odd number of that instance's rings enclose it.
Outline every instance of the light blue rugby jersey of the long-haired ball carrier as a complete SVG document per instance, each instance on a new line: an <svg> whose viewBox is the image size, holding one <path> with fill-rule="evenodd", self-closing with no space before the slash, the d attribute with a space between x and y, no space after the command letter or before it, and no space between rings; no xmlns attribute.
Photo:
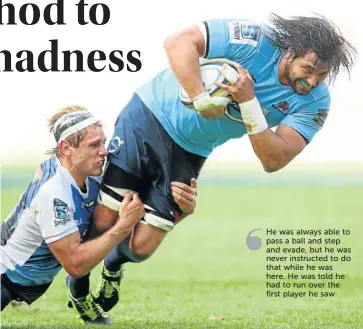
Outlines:
<svg viewBox="0 0 363 329"><path fill-rule="evenodd" d="M269 127L289 126L310 142L330 107L327 86L322 83L309 94L299 95L282 85L278 66L283 54L261 33L263 26L246 20L211 20L200 28L206 41L205 58L230 59L253 76ZM167 69L136 93L185 150L207 157L215 147L247 133L238 104L229 104L223 117L206 120L180 102L179 89L179 82Z"/></svg>

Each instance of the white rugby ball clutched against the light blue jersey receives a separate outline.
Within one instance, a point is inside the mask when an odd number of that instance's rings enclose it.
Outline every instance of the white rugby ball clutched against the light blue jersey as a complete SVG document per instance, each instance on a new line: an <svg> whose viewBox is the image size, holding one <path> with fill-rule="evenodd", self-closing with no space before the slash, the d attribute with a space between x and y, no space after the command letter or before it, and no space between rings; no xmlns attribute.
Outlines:
<svg viewBox="0 0 363 329"><path fill-rule="evenodd" d="M216 82L223 83L225 85L231 85L231 83L222 75L220 69L223 65L229 65L223 58L215 58L207 60L200 65L200 78L205 86L208 94L212 96L228 96L228 91L219 88ZM236 68L229 65L235 71ZM179 89L179 99L188 108L194 109L193 101L189 98L189 95L182 86Z"/></svg>

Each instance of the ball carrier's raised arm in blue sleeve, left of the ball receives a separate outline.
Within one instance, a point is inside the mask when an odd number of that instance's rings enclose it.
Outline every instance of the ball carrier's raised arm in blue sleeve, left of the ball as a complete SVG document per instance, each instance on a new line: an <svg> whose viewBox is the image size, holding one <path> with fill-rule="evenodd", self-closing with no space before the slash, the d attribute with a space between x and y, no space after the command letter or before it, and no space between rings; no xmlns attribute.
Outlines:
<svg viewBox="0 0 363 329"><path fill-rule="evenodd" d="M253 55L260 27L250 21L210 20L169 37L164 45L174 75L206 119L224 115L228 97L210 95L200 80L199 57L243 60Z"/></svg>

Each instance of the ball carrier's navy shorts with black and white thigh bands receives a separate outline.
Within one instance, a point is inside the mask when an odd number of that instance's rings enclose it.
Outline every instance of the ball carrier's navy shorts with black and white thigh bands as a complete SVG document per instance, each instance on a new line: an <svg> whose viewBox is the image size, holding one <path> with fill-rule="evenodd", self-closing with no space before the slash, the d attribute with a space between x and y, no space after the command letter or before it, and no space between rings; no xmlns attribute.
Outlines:
<svg viewBox="0 0 363 329"><path fill-rule="evenodd" d="M117 119L108 161L100 193L103 204L117 211L123 195L136 191L145 205L144 222L168 232L181 215L171 182L190 184L205 158L177 145L134 96Z"/></svg>

